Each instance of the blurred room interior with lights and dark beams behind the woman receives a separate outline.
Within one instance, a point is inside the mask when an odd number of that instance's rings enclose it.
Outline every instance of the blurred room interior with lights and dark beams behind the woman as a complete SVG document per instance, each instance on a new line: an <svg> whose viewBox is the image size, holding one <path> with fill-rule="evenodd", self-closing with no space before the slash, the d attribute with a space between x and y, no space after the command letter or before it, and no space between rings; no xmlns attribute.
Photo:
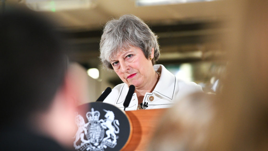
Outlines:
<svg viewBox="0 0 268 151"><path fill-rule="evenodd" d="M134 14L159 36L163 64L177 77L200 84L206 93L217 93L225 74L230 7L225 0L0 0L1 12L9 4L28 7L57 23L73 50L70 60L88 73L89 101L106 87L122 83L99 61L103 26L112 18Z"/></svg>

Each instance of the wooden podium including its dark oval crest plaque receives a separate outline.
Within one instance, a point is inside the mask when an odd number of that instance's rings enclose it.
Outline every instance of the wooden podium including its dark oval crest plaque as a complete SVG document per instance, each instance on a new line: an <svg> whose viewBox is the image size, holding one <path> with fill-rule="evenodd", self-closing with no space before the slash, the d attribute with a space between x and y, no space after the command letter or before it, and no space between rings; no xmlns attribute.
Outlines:
<svg viewBox="0 0 268 151"><path fill-rule="evenodd" d="M116 106L103 102L80 105L77 107L74 150L145 151L166 110L124 113Z"/></svg>

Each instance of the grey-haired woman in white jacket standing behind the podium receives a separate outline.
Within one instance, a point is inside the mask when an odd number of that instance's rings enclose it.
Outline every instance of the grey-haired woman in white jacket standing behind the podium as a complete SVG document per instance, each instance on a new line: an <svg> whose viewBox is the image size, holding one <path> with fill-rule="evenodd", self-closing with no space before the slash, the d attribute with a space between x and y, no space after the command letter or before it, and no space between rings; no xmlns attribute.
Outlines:
<svg viewBox="0 0 268 151"><path fill-rule="evenodd" d="M136 88L126 111L168 108L174 100L202 91L194 82L177 79L163 65L154 65L160 56L157 36L136 16L124 15L107 22L100 51L103 66L113 69L124 82L114 87L104 102L124 109L129 86Z"/></svg>

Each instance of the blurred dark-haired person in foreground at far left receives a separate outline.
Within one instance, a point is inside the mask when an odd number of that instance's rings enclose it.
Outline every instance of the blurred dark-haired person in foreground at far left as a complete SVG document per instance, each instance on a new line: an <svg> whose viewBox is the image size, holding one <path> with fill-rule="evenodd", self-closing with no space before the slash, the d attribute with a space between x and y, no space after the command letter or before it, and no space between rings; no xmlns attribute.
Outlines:
<svg viewBox="0 0 268 151"><path fill-rule="evenodd" d="M0 16L0 150L67 150L75 135L76 103L66 45L36 12Z"/></svg>

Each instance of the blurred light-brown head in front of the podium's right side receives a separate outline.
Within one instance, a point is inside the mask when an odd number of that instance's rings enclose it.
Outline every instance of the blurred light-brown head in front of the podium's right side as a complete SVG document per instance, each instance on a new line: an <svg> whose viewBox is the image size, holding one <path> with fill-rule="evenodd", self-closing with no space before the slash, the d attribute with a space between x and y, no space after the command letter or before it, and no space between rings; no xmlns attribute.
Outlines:
<svg viewBox="0 0 268 151"><path fill-rule="evenodd" d="M215 116L214 100L215 95L196 93L168 109L159 118L147 150L192 151L206 145L209 126Z"/></svg>

